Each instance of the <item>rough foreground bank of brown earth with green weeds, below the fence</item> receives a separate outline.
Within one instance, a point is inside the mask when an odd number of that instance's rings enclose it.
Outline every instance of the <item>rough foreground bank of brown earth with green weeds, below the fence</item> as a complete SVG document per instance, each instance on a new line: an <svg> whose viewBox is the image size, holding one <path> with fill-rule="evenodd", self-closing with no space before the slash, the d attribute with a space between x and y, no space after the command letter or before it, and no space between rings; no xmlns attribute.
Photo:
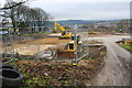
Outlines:
<svg viewBox="0 0 132 88"><path fill-rule="evenodd" d="M18 62L18 68L25 77L23 86L85 86L85 80L94 77L101 61L85 63L86 66L72 66L62 63L46 64L21 61Z"/></svg>

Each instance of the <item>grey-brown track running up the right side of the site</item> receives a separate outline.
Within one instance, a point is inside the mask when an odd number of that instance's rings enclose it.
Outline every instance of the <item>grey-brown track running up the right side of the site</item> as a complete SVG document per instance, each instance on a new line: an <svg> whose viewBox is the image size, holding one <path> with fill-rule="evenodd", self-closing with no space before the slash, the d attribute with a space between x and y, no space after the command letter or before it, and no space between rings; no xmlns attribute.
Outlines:
<svg viewBox="0 0 132 88"><path fill-rule="evenodd" d="M108 35L106 37L94 37L103 41L107 46L107 57L105 67L91 80L90 86L130 86L130 72L122 62L122 59L130 62L130 53L116 44L116 41L122 37L129 36Z"/></svg>

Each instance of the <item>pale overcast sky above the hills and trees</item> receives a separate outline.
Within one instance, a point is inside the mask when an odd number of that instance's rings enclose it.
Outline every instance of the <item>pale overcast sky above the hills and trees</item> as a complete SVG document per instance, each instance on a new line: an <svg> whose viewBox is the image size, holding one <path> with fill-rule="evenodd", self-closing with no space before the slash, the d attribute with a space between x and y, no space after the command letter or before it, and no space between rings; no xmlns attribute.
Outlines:
<svg viewBox="0 0 132 88"><path fill-rule="evenodd" d="M130 18L131 0L34 0L28 6L42 8L54 20L117 20Z"/></svg>

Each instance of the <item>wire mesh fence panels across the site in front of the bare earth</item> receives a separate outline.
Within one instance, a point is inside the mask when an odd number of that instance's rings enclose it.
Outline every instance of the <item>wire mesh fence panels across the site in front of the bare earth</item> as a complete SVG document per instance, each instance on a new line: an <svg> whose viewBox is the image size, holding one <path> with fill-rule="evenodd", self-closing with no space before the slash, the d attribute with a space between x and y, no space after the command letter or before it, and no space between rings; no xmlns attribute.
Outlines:
<svg viewBox="0 0 132 88"><path fill-rule="evenodd" d="M79 61L88 55L88 30L87 29L73 29L72 38L59 37L44 37L30 41L30 43L15 43L13 41L14 35L8 34L1 40L3 44L1 51L1 58L11 57L32 57L38 61L50 62L72 62L74 59ZM76 36L75 36L76 35ZM77 40L79 38L79 40ZM31 43L32 42L32 43ZM46 42L42 44L42 42ZM54 44L55 43L55 44Z"/></svg>

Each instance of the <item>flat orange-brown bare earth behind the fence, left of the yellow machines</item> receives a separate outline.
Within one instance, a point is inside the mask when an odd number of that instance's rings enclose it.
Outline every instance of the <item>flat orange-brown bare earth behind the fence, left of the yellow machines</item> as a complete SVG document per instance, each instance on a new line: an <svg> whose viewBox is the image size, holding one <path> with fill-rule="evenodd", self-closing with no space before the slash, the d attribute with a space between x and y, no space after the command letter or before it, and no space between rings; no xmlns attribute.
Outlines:
<svg viewBox="0 0 132 88"><path fill-rule="evenodd" d="M63 46L66 45L70 40L58 40L56 37L48 38L38 38L38 40L21 40L13 43L12 47L8 47L8 53L10 50L14 48L15 53L20 55L34 55L37 52L42 52L48 47ZM4 44L3 44L4 45ZM2 46L2 52L4 51L4 46Z"/></svg>

